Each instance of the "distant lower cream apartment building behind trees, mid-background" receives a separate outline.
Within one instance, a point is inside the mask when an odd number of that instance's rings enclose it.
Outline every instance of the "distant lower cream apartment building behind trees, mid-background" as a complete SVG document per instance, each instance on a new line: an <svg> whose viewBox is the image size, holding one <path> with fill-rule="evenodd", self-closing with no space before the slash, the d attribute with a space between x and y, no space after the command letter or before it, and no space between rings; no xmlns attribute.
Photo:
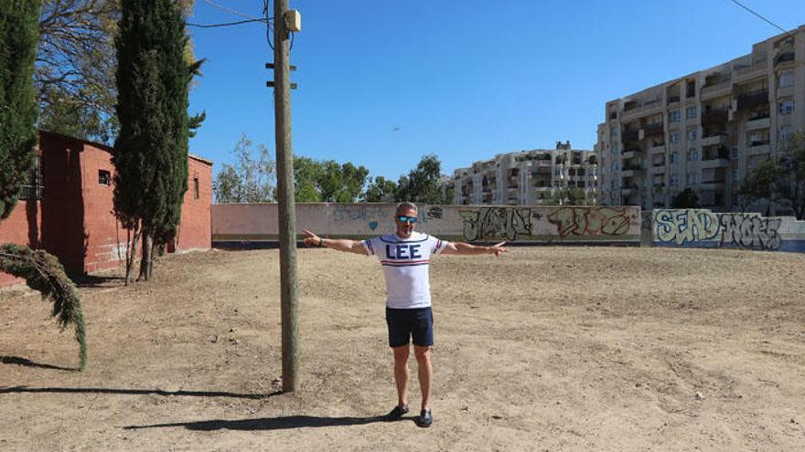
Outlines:
<svg viewBox="0 0 805 452"><path fill-rule="evenodd" d="M597 200L595 152L573 150L570 142L556 142L556 149L498 154L453 173L453 204L539 205L560 189L578 187L587 202Z"/></svg>

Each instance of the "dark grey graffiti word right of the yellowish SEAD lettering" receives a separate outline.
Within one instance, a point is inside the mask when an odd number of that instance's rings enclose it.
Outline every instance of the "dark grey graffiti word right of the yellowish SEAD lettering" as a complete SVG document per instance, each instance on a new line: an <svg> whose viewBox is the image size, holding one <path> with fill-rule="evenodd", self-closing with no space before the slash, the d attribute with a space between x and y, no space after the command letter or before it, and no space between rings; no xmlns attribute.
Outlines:
<svg viewBox="0 0 805 452"><path fill-rule="evenodd" d="M763 218L759 215L722 214L721 246L730 244L735 247L749 249L776 250L781 239L778 233L782 220L779 218Z"/></svg>

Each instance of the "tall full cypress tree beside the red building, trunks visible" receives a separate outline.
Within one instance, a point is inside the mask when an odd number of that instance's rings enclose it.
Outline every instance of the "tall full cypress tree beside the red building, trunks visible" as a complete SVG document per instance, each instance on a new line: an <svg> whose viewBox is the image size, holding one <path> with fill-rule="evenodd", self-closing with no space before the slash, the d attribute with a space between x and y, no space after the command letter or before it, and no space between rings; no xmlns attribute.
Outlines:
<svg viewBox="0 0 805 452"><path fill-rule="evenodd" d="M117 47L114 206L123 226L143 237L140 278L151 276L153 244L176 236L188 190L188 84L200 62L187 63L188 37L177 2L123 0Z"/></svg>

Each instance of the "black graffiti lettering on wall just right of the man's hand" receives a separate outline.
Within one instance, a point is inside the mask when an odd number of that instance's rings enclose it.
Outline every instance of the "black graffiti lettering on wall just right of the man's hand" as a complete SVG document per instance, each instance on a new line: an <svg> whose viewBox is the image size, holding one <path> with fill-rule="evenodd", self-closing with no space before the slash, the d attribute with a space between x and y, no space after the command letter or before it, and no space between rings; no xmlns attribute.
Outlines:
<svg viewBox="0 0 805 452"><path fill-rule="evenodd" d="M484 207L459 210L467 241L486 239L514 240L519 234L531 234L531 209Z"/></svg>

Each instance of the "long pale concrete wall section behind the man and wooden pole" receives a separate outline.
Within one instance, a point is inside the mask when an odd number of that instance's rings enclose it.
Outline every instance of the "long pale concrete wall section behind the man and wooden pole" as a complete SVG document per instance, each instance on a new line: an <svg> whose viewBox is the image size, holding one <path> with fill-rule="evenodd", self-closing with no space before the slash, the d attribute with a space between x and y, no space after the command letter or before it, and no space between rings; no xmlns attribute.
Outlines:
<svg viewBox="0 0 805 452"><path fill-rule="evenodd" d="M298 204L296 227L324 237L394 232L393 204ZM637 206L419 205L417 230L446 240L639 245ZM216 247L277 241L277 205L212 205Z"/></svg>

